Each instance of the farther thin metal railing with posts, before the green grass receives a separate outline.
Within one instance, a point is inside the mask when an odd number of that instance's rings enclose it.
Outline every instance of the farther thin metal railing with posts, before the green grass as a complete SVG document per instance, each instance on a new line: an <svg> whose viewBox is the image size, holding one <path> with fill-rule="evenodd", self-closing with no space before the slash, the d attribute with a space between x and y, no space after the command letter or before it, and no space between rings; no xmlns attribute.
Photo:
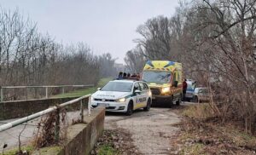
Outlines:
<svg viewBox="0 0 256 155"><path fill-rule="evenodd" d="M93 87L94 84L87 85L43 85L43 86L2 86L0 87L0 101L3 102L3 89L29 89L29 88L43 88L45 89L45 98L49 98L48 90L49 88L62 88L62 94L65 93L65 88L73 87L73 88L82 88L82 87Z"/></svg>

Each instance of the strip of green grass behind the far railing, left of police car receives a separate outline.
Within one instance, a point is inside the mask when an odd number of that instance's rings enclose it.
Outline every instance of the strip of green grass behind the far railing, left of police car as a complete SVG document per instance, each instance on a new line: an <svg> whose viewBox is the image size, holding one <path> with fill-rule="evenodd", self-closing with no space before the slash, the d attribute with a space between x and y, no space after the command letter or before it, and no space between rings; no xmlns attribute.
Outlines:
<svg viewBox="0 0 256 155"><path fill-rule="evenodd" d="M61 95L54 95L52 97L79 97L83 95L89 95L96 92L98 88L102 88L106 83L108 83L112 79L113 78L101 78L100 81L94 87L78 89Z"/></svg>

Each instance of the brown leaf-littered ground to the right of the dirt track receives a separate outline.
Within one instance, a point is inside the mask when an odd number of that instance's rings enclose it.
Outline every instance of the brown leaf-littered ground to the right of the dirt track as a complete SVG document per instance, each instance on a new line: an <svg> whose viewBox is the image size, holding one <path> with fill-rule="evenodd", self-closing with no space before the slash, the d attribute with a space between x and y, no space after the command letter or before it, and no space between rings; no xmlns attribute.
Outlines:
<svg viewBox="0 0 256 155"><path fill-rule="evenodd" d="M211 112L208 104L184 106L181 129L172 141L174 154L255 154L256 136L247 134L240 123L227 123Z"/></svg>

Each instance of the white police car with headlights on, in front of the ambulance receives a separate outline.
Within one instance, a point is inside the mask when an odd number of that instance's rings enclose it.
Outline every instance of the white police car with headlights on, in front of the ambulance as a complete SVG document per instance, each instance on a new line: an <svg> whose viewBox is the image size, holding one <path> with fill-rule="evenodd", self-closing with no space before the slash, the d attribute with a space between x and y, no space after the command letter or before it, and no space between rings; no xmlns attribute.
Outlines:
<svg viewBox="0 0 256 155"><path fill-rule="evenodd" d="M91 106L105 106L108 112L131 115L136 109L150 109L151 91L147 83L136 80L113 80L91 95Z"/></svg>

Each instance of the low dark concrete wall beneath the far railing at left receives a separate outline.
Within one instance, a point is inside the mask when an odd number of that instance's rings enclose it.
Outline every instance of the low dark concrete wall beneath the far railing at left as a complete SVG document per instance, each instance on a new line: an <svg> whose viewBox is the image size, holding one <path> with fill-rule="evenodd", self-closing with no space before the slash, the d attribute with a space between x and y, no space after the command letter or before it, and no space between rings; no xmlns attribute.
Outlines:
<svg viewBox="0 0 256 155"><path fill-rule="evenodd" d="M23 118L35 112L47 109L49 106L64 103L78 97L50 98L39 100L15 100L3 101L0 103L0 120L10 118ZM84 106L87 106L88 99L84 99ZM70 109L78 110L79 104L69 106Z"/></svg>

